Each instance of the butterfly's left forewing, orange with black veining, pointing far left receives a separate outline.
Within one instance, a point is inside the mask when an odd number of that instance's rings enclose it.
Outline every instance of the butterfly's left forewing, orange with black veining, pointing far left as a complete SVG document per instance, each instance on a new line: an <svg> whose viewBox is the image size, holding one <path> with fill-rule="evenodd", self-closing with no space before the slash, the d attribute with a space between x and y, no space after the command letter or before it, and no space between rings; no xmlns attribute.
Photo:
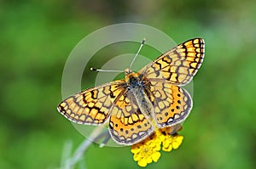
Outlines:
<svg viewBox="0 0 256 169"><path fill-rule="evenodd" d="M109 110L124 91L125 81L109 82L63 100L57 109L70 121L99 125L107 121Z"/></svg>

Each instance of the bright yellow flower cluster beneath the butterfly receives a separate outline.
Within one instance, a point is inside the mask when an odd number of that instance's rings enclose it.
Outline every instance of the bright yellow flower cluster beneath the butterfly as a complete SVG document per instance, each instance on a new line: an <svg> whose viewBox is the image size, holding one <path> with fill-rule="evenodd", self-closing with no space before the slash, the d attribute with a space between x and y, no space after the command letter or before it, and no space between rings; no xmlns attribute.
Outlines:
<svg viewBox="0 0 256 169"><path fill-rule="evenodd" d="M158 129L154 135L146 138L138 144L131 145L133 160L137 161L138 166L147 166L152 161L160 159L160 149L171 151L177 149L183 142L183 136L177 134L179 127L166 127ZM172 134L172 132L175 132Z"/></svg>

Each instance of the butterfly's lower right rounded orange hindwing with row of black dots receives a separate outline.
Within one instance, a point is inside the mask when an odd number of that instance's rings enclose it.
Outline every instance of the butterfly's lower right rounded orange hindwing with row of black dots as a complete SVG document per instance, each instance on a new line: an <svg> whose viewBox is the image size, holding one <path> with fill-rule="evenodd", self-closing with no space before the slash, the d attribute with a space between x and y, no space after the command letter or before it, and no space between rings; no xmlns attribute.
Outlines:
<svg viewBox="0 0 256 169"><path fill-rule="evenodd" d="M150 82L154 96L154 118L158 127L171 127L185 121L192 108L192 99L182 87L171 82Z"/></svg>

